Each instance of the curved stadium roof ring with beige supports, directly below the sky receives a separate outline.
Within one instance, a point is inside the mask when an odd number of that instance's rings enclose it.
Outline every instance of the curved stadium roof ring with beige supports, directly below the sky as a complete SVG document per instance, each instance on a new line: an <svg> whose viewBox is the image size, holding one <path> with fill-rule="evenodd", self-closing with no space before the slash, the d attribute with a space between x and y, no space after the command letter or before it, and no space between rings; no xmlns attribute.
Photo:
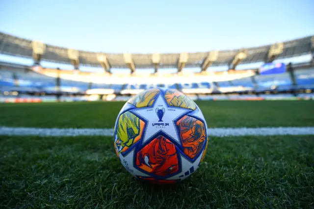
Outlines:
<svg viewBox="0 0 314 209"><path fill-rule="evenodd" d="M227 50L219 52L196 52L196 53L167 53L167 54L112 54L75 51L51 45L45 45L5 33L0 33L1 53L14 56L34 58L37 63L47 60L58 63L71 64L71 60L77 59L79 65L102 66L101 63L109 65L110 68L126 68L128 65L140 68L178 68L178 62L185 63L184 67L200 67L204 69L203 63L211 60L211 66L230 65L235 63L252 63L267 60L268 57L287 58L299 56L311 52L312 36L299 38L274 45L253 47L248 49ZM279 50L278 50L279 49ZM276 54L279 53L279 54ZM40 55L40 56L39 56ZM154 58L154 59L153 59ZM216 58L216 59L215 59ZM215 61L212 61L215 60ZM269 60L267 60L269 61ZM234 68L233 68L234 69Z"/></svg>

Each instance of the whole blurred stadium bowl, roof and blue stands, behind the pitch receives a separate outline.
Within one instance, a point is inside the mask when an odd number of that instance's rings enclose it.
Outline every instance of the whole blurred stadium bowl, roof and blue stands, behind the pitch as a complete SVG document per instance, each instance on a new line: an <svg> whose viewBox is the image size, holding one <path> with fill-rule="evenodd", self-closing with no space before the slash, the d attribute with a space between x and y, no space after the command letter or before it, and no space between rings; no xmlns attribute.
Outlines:
<svg viewBox="0 0 314 209"><path fill-rule="evenodd" d="M112 54L66 49L0 33L0 53L33 59L34 63L0 62L1 102L127 100L154 87L175 88L202 100L313 98L314 36L230 51ZM304 55L310 58L292 61ZM73 70L43 68L42 61L71 64ZM238 70L239 64L248 63L261 66ZM104 71L83 72L80 66ZM226 69L209 70L215 66ZM184 70L195 67L199 72ZM117 68L129 68L130 73L111 72ZM162 68L177 72L162 73ZM154 69L154 73L141 69Z"/></svg>

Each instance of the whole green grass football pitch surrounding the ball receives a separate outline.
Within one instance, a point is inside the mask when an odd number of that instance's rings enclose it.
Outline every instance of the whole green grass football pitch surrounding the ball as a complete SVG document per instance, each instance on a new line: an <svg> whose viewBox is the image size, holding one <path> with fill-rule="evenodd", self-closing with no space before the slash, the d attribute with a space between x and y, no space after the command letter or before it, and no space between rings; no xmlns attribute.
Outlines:
<svg viewBox="0 0 314 209"><path fill-rule="evenodd" d="M252 129L209 132L200 168L175 185L142 183L122 166L110 130L124 102L0 104L0 208L314 208L314 101L196 103L209 130ZM310 133L267 135L280 127Z"/></svg>

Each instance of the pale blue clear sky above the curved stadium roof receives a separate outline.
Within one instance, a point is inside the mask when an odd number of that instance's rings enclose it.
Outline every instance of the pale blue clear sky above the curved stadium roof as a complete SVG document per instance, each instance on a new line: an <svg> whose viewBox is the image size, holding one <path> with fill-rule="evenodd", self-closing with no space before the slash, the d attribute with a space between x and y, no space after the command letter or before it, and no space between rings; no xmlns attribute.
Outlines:
<svg viewBox="0 0 314 209"><path fill-rule="evenodd" d="M0 31L97 52L207 52L314 34L314 0L0 0Z"/></svg>

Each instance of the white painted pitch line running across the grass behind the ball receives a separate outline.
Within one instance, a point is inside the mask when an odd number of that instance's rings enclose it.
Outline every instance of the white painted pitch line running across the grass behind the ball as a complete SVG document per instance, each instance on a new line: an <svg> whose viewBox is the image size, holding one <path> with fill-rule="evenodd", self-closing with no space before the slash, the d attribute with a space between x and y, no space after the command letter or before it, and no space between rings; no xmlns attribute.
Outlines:
<svg viewBox="0 0 314 209"><path fill-rule="evenodd" d="M209 128L209 136L314 135L314 127ZM113 136L113 129L0 127L6 136Z"/></svg>

